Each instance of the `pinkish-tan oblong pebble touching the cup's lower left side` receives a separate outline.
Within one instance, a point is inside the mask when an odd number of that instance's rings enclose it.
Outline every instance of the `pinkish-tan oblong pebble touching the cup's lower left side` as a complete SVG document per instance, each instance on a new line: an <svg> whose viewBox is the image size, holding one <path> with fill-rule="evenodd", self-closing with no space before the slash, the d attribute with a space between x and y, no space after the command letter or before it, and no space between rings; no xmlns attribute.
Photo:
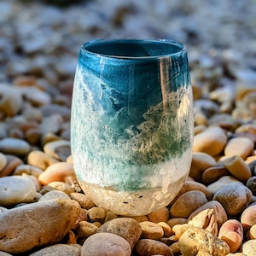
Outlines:
<svg viewBox="0 0 256 256"><path fill-rule="evenodd" d="M48 166L46 170L39 175L38 180L43 185L47 185L55 181L65 182L67 177L75 177L73 165L60 162Z"/></svg>

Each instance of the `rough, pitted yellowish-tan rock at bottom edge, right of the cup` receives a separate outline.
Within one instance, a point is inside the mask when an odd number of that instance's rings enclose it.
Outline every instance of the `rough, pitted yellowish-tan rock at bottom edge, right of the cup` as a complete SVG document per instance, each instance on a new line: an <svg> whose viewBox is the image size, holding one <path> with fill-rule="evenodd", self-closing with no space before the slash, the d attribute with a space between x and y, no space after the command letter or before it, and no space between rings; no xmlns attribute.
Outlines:
<svg viewBox="0 0 256 256"><path fill-rule="evenodd" d="M223 256L230 253L227 243L211 232L196 227L186 230L179 240L180 252L184 256Z"/></svg>

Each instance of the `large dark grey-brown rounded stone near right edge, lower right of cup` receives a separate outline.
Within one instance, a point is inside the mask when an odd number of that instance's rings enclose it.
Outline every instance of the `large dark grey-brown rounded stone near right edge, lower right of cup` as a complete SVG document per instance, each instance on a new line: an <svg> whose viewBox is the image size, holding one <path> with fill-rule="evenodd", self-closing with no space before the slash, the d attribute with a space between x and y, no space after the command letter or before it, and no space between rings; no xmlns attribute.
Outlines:
<svg viewBox="0 0 256 256"><path fill-rule="evenodd" d="M252 192L242 183L230 183L219 189L213 200L219 201L227 212L228 216L236 216L249 205L252 199Z"/></svg>

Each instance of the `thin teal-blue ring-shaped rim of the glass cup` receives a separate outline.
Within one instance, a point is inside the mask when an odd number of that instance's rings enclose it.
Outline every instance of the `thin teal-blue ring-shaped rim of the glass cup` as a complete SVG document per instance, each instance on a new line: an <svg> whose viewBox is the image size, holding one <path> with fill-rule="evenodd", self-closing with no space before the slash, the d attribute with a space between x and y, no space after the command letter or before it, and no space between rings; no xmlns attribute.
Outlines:
<svg viewBox="0 0 256 256"><path fill-rule="evenodd" d="M93 44L101 44L101 43L126 43L131 44L131 43L137 43L137 44L148 44L148 43L156 43L156 44L170 44L178 48L177 51L168 53L165 55L151 55L151 56L127 56L127 55L107 55L107 54L102 54L99 52L94 52L91 51L90 46L93 46ZM85 44L82 45L80 52L85 54L85 55L94 55L94 56L102 56L106 58L113 58L113 59L126 59L126 60L156 60L159 58L165 58L165 57L170 57L170 56L177 56L181 55L183 52L185 52L186 49L184 48L183 44L178 43L176 41L173 41L171 39L159 39L159 40L154 40L154 39L95 39L91 40Z"/></svg>

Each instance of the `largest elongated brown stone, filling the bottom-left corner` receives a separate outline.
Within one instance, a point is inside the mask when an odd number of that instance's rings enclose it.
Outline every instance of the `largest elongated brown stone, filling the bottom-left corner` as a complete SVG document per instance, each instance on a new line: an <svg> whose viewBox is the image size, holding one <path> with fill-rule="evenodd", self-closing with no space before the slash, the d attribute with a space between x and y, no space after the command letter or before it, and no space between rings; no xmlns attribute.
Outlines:
<svg viewBox="0 0 256 256"><path fill-rule="evenodd" d="M0 214L0 250L26 253L35 247L55 244L79 218L79 203L73 200L40 201Z"/></svg>

